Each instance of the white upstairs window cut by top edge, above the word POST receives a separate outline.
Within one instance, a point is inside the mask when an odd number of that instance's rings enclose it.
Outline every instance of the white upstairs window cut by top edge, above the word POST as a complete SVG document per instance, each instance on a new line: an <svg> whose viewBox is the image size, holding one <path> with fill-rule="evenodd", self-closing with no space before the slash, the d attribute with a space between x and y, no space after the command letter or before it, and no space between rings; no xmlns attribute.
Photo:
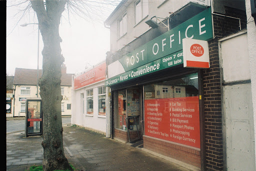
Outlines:
<svg viewBox="0 0 256 171"><path fill-rule="evenodd" d="M135 24L148 15L148 0L135 1Z"/></svg>

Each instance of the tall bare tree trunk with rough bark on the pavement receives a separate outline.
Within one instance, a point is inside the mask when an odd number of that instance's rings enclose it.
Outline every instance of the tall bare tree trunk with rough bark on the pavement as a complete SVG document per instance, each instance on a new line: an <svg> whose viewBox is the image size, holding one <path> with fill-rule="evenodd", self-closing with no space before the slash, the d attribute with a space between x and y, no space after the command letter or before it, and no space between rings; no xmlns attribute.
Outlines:
<svg viewBox="0 0 256 171"><path fill-rule="evenodd" d="M43 40L42 77L39 80L43 111L43 171L72 170L64 156L60 77L61 54L59 23L66 0L31 0Z"/></svg>

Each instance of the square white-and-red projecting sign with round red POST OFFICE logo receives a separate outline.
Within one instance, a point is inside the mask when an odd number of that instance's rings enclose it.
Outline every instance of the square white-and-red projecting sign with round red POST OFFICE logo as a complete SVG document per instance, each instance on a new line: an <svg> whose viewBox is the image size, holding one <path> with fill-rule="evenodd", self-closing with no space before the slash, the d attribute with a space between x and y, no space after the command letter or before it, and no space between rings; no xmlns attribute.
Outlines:
<svg viewBox="0 0 256 171"><path fill-rule="evenodd" d="M182 43L184 68L209 68L207 41L184 38Z"/></svg>

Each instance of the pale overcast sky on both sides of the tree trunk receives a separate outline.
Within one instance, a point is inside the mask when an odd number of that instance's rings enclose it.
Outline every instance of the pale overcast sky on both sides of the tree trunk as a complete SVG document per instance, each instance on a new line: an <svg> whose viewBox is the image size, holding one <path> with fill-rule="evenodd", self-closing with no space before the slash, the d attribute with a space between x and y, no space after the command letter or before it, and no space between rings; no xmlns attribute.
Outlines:
<svg viewBox="0 0 256 171"><path fill-rule="evenodd" d="M8 3L7 3L8 6ZM13 17L18 9L6 8L6 73L14 75L15 68L37 68L37 24L21 27L23 23L37 23L36 15L22 18ZM111 10L109 10L110 12ZM107 17L107 16L105 16ZM67 73L84 71L85 64L94 65L105 59L109 51L109 29L102 23L90 23L80 17L70 19L70 24L62 18L59 34L62 38L61 50L65 58ZM13 30L12 30L13 29ZM40 35L39 69L42 65L43 42Z"/></svg>

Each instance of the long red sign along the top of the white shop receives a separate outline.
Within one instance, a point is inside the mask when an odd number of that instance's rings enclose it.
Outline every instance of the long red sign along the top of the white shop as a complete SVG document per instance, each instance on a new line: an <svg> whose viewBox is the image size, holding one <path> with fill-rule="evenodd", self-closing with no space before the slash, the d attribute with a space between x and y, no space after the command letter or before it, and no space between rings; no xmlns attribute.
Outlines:
<svg viewBox="0 0 256 171"><path fill-rule="evenodd" d="M91 70L74 78L74 90L105 79L106 63L102 63Z"/></svg>

